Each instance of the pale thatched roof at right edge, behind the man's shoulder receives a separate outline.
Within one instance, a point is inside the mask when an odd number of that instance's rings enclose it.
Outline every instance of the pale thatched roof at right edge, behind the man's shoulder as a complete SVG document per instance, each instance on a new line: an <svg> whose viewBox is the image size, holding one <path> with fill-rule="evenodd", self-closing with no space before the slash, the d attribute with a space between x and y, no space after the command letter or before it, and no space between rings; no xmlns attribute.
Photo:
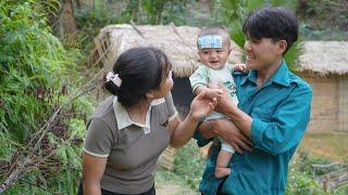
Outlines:
<svg viewBox="0 0 348 195"><path fill-rule="evenodd" d="M348 74L348 42L304 41L299 56L299 72L313 72L319 75Z"/></svg>

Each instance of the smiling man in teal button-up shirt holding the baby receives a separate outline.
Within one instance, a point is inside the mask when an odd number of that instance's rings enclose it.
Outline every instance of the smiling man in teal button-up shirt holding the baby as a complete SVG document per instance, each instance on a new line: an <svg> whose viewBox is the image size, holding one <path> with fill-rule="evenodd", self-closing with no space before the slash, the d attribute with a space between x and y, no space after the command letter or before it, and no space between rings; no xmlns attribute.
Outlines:
<svg viewBox="0 0 348 195"><path fill-rule="evenodd" d="M250 72L234 74L238 107L228 102L221 86L219 109L231 120L203 121L195 135L200 146L220 135L240 154L229 161L231 174L216 179L220 144L213 144L199 187L203 195L284 194L288 164L310 119L312 90L288 70L283 58L298 38L294 13L282 8L256 10L243 31Z"/></svg>

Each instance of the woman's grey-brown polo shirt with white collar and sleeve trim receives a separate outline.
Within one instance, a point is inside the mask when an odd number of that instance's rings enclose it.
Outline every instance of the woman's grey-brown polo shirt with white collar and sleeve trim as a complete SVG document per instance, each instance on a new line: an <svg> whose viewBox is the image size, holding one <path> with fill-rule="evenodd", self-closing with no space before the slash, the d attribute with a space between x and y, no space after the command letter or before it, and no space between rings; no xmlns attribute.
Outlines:
<svg viewBox="0 0 348 195"><path fill-rule="evenodd" d="M175 116L171 93L152 101L145 125L132 121L116 96L102 102L87 125L84 144L85 153L108 157L101 188L122 194L150 190L158 158L170 144L167 121Z"/></svg>

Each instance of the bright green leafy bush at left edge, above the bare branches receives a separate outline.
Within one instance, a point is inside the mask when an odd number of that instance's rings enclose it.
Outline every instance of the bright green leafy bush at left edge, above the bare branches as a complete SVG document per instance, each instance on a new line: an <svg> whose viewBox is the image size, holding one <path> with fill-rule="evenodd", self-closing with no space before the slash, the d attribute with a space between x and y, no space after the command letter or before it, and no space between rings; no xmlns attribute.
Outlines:
<svg viewBox="0 0 348 195"><path fill-rule="evenodd" d="M71 60L33 3L0 6L0 127L23 143L50 113Z"/></svg>

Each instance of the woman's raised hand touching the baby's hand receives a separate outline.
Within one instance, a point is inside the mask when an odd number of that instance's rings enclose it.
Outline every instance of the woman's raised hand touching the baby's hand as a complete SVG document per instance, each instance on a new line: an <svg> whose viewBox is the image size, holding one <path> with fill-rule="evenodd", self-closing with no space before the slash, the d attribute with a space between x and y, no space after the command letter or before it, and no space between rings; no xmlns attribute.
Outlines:
<svg viewBox="0 0 348 195"><path fill-rule="evenodd" d="M215 98L210 99L207 91L202 91L194 99L190 106L190 115L195 120L200 120L211 114L216 105L217 100Z"/></svg>

